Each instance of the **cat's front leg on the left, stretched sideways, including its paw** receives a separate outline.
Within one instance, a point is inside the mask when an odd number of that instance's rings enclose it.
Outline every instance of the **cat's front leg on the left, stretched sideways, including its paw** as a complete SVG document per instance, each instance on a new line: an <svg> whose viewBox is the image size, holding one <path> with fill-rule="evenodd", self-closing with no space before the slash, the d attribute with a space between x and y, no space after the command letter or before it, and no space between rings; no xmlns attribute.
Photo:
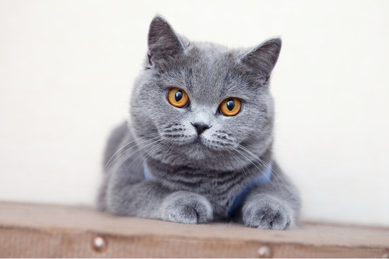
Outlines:
<svg viewBox="0 0 389 259"><path fill-rule="evenodd" d="M116 180L116 181L115 181ZM189 191L171 191L153 180L128 184L124 179L108 186L106 204L111 213L195 224L212 220L211 203Z"/></svg>

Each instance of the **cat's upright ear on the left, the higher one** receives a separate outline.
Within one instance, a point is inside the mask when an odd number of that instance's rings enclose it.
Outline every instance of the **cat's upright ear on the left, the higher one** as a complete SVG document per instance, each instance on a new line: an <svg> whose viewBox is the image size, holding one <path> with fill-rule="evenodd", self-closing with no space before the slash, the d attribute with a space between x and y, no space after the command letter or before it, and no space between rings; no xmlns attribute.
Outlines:
<svg viewBox="0 0 389 259"><path fill-rule="evenodd" d="M148 63L150 66L159 60L182 53L184 48L172 26L161 16L150 23L148 35Z"/></svg>

